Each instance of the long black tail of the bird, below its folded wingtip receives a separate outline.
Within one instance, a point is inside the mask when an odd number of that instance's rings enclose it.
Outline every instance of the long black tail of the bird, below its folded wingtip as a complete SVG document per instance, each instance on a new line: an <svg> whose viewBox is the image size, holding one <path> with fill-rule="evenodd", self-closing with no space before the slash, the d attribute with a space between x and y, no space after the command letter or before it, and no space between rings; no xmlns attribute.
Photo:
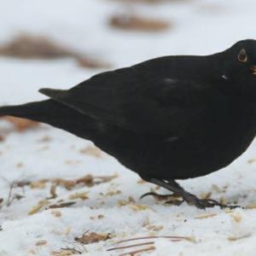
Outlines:
<svg viewBox="0 0 256 256"><path fill-rule="evenodd" d="M96 132L96 123L93 119L51 99L0 107L0 116L5 115L32 119L87 139Z"/></svg>

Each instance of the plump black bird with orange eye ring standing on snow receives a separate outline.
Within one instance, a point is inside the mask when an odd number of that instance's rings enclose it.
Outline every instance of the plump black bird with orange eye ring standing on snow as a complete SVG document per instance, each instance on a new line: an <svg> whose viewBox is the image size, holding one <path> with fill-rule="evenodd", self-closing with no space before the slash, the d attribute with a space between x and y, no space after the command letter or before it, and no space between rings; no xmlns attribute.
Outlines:
<svg viewBox="0 0 256 256"><path fill-rule="evenodd" d="M221 53L174 55L97 74L48 100L0 108L91 140L149 183L189 204L175 179L200 177L236 160L256 135L256 41Z"/></svg>

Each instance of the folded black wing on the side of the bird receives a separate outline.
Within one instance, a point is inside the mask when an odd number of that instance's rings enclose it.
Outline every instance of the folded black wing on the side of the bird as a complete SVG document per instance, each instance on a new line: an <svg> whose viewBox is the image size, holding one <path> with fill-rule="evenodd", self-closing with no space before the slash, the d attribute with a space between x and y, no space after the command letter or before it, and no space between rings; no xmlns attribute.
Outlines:
<svg viewBox="0 0 256 256"><path fill-rule="evenodd" d="M198 122L212 97L205 84L142 79L130 68L101 73L70 90L41 89L58 102L99 122L148 134L177 134Z"/></svg>

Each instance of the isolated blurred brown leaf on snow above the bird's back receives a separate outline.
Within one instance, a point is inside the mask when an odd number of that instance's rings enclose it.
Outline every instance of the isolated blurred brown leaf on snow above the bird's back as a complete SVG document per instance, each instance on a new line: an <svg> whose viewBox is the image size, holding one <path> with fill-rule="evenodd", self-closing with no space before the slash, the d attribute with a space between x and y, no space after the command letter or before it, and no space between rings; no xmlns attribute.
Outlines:
<svg viewBox="0 0 256 256"><path fill-rule="evenodd" d="M140 17L137 15L113 15L109 25L121 29L145 32L159 32L170 28L171 24L165 20Z"/></svg>

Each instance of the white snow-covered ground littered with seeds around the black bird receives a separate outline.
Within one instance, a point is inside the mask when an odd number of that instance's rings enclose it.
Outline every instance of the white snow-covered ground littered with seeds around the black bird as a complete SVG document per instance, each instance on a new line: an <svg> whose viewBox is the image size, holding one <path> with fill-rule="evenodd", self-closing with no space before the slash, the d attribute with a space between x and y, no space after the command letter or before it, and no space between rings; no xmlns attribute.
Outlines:
<svg viewBox="0 0 256 256"><path fill-rule="evenodd" d="M190 0L131 6L120 2L2 1L0 43L20 32L43 34L108 61L115 68L159 55L211 54L241 38L256 35L253 0ZM124 9L170 20L173 28L156 33L110 28L109 15L123 13ZM68 88L97 72L77 67L69 59L24 61L1 57L0 104L43 99L37 92L40 87ZM67 132L47 125L24 132L12 129L9 123L0 123L0 135L5 137L0 143L1 256L63 256L70 255L68 247L84 255L118 255L142 247L112 252L108 248L115 247L117 241L140 236L189 237L181 241L152 238L155 250L151 255L255 255L255 142L240 159L220 172L180 182L196 195L211 192L213 199L251 205L252 209L224 211L214 207L204 211L186 203L176 207L150 197L139 200L143 193L158 188L140 182L135 173L112 157L95 151L92 143ZM117 177L91 187L77 184L67 189L58 185L57 197L45 201L51 195L53 179L75 181L88 174ZM13 183L25 181L32 183L11 189ZM157 191L166 193L164 189ZM40 201L41 207L35 208ZM46 209L70 201L76 203ZM32 210L34 214L29 214ZM110 234L111 239L82 246L75 237L83 236L85 231L84 236L96 232ZM131 242L119 246L128 244Z"/></svg>

